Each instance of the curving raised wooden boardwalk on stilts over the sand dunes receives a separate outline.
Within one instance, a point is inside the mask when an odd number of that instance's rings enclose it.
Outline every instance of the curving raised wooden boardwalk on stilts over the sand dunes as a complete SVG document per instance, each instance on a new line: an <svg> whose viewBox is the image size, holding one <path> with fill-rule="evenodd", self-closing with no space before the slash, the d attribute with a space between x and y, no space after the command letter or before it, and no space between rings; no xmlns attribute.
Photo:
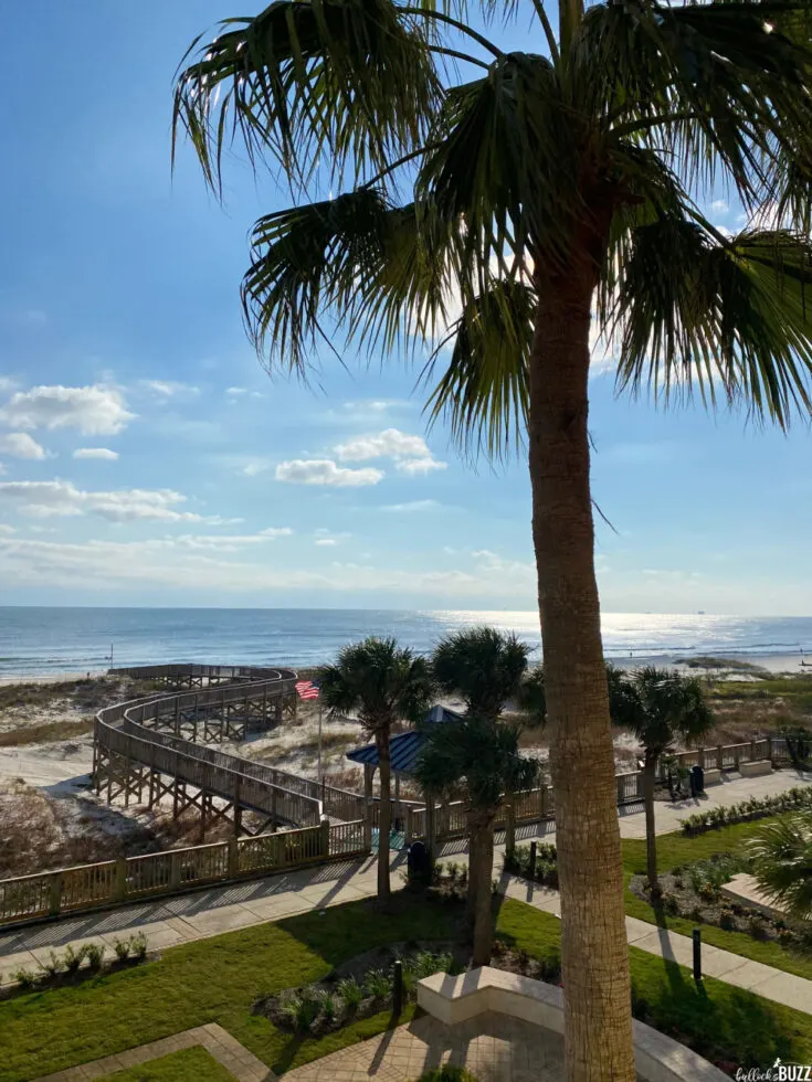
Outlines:
<svg viewBox="0 0 812 1082"><path fill-rule="evenodd" d="M210 746L244 740L295 715L296 672L247 666L161 665L112 669L115 676L162 683L134 702L99 711L94 730L96 789L108 802L171 798L173 814L194 807L201 835L213 818L230 817L239 834L242 813L277 825L318 826L324 816L357 820L363 797ZM192 690L171 690L178 688ZM217 803L215 803L217 800Z"/></svg>

